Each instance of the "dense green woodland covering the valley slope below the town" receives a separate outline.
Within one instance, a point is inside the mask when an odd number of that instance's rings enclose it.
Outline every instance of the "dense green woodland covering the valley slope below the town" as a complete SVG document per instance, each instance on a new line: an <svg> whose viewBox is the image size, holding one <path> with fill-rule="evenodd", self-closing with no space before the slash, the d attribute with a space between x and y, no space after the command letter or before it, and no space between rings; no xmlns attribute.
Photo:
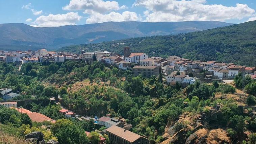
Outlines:
<svg viewBox="0 0 256 144"><path fill-rule="evenodd" d="M168 140L164 135L174 132L181 135L178 141L185 143L201 129L222 129L226 140L212 138L220 143L256 141L256 114L251 108L239 107L255 106L256 82L241 74L235 77L234 86L196 81L183 88L179 83L165 84L161 74L135 77L130 70L122 71L101 62L26 63L20 71L14 63L0 62L0 88L19 92L21 96L15 99L42 99L41 104L31 103L25 108L57 120L53 125L34 123L27 115L0 107L0 131L21 138L29 132L42 131L45 139L56 139L59 143L97 143L97 133L86 137L84 131L104 127L96 127L92 121L63 119L58 114L59 105L45 104L45 100L60 95L61 105L79 115L112 114L125 118L133 125L131 131L149 138L151 144ZM239 95L239 89L246 94ZM218 110L217 118L207 119L213 108ZM205 120L199 122L199 115L205 116ZM191 122L180 121L181 118L190 118ZM42 128L43 124L52 125L51 131Z"/></svg>

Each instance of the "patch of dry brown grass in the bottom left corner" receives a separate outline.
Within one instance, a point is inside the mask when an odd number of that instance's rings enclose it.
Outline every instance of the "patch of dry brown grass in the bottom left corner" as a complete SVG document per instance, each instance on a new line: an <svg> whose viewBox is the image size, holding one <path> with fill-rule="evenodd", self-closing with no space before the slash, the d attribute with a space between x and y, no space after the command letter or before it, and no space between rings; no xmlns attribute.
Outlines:
<svg viewBox="0 0 256 144"><path fill-rule="evenodd" d="M0 131L0 144L30 144L25 140L9 136Z"/></svg>

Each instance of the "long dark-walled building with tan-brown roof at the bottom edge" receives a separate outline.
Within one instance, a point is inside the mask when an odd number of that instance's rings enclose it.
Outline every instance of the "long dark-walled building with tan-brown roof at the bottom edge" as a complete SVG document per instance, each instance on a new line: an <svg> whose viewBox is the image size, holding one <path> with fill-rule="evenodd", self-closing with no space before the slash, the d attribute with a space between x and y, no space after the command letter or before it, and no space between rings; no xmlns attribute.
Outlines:
<svg viewBox="0 0 256 144"><path fill-rule="evenodd" d="M118 126L106 129L110 144L149 144L149 139Z"/></svg>

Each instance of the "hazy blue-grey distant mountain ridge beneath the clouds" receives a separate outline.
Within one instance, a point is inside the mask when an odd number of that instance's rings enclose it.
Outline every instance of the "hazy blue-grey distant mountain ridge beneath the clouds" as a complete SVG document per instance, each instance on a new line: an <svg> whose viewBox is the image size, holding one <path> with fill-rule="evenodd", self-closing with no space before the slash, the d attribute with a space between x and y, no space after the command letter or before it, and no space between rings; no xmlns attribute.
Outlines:
<svg viewBox="0 0 256 144"><path fill-rule="evenodd" d="M216 21L104 22L43 28L18 23L0 24L0 49L57 49L76 44L153 35L174 35L229 25L232 24Z"/></svg>

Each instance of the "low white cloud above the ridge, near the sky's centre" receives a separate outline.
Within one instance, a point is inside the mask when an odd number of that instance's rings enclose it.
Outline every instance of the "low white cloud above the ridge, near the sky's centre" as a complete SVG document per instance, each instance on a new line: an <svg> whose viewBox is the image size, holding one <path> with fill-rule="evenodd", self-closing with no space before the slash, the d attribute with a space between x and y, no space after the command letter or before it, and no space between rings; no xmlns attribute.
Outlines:
<svg viewBox="0 0 256 144"><path fill-rule="evenodd" d="M98 12L92 12L90 17L86 20L87 24L102 23L102 22L122 22L122 21L138 21L137 13L131 11L124 11L122 14L118 12L110 12L108 14L101 14Z"/></svg>

